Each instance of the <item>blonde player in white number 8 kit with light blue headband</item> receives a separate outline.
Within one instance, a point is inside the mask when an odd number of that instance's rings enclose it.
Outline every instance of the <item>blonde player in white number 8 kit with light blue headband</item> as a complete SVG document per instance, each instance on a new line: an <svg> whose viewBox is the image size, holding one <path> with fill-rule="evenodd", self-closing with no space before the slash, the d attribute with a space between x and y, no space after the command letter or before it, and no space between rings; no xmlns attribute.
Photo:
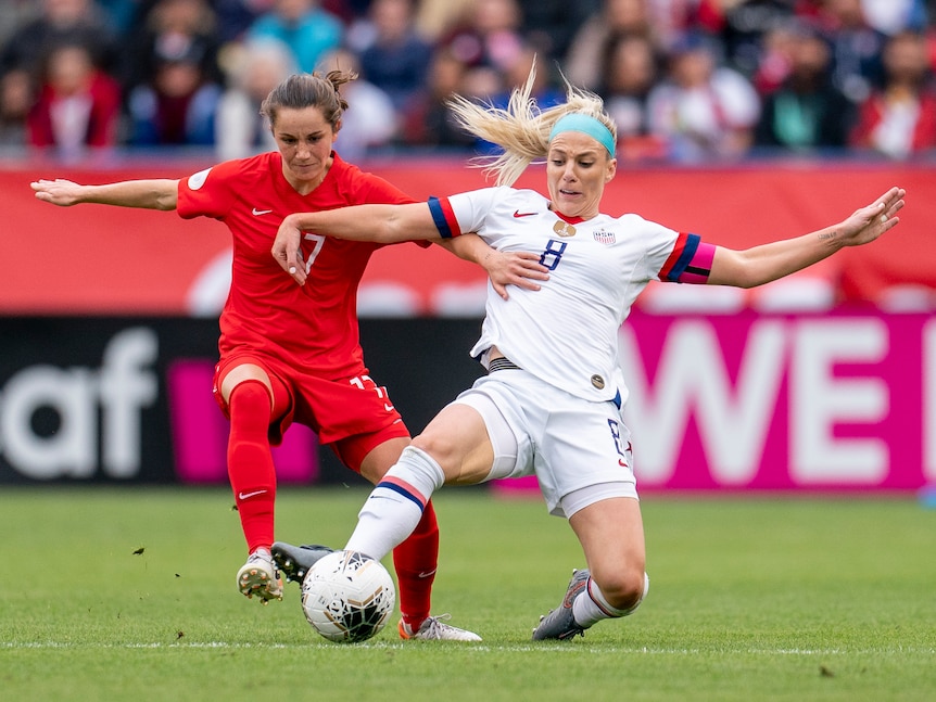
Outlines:
<svg viewBox="0 0 936 702"><path fill-rule="evenodd" d="M614 123L598 98L568 88L567 102L540 112L531 81L506 111L456 99L471 133L504 149L497 187L430 199L296 213L280 226L274 257L304 283L308 238L381 242L478 232L499 251L539 251L551 269L537 292L508 299L489 288L472 349L489 374L461 393L404 449L364 505L345 548L383 558L419 522L443 484L535 473L549 511L564 515L587 567L573 572L560 607L533 639L583 635L633 612L647 592L644 532L630 432L619 412L618 330L650 280L751 288L871 242L898 224L905 191L891 188L839 224L745 251L703 242L637 215L599 210L615 177ZM509 186L546 158L548 197Z"/></svg>

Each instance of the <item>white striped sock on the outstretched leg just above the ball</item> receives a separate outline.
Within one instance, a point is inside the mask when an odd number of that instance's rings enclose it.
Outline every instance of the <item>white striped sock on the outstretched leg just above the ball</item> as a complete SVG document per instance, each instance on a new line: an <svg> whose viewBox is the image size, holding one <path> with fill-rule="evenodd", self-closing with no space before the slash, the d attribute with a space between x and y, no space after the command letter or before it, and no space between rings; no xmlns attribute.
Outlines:
<svg viewBox="0 0 936 702"><path fill-rule="evenodd" d="M381 560L413 533L432 493L444 483L435 459L407 446L361 508L344 548Z"/></svg>

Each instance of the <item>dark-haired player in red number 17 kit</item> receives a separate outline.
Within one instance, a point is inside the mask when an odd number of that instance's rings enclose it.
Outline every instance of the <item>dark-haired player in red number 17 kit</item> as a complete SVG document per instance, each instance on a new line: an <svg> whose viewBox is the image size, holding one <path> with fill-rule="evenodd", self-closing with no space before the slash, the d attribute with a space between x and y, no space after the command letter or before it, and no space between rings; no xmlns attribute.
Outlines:
<svg viewBox="0 0 936 702"><path fill-rule="evenodd" d="M99 203L175 209L182 218L219 219L233 238L231 288L220 315L214 394L230 420L228 473L248 544L238 588L261 601L281 599L273 562L276 471L270 445L292 422L312 427L342 462L377 483L409 443L387 392L368 374L358 343L356 291L379 245L316 237L308 242L308 284L298 286L270 258L283 217L293 212L364 203L413 202L389 182L332 150L346 102L340 86L356 76L332 71L294 75L275 88L262 112L278 150L229 161L180 180L83 186L31 183L54 205ZM535 289L545 279L537 256L504 255L477 237L446 245L485 267L502 294L508 284ZM479 640L430 616L439 528L431 506L393 553L403 638Z"/></svg>

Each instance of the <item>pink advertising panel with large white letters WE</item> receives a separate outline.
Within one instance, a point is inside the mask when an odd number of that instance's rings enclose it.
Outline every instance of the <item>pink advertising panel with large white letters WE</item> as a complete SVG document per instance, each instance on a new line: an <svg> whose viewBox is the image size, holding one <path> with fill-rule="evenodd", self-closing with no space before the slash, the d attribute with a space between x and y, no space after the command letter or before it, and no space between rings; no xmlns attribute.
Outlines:
<svg viewBox="0 0 936 702"><path fill-rule="evenodd" d="M635 312L621 329L620 358L643 490L936 484L928 315Z"/></svg>

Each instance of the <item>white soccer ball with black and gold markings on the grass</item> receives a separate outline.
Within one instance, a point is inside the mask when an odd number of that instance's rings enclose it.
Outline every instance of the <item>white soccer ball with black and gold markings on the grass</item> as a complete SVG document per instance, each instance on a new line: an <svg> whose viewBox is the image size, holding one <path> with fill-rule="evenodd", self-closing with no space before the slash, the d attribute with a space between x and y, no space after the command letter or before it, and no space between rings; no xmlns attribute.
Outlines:
<svg viewBox="0 0 936 702"><path fill-rule="evenodd" d="M302 582L305 618L329 641L366 641L383 628L395 604L390 573L357 551L329 553Z"/></svg>

